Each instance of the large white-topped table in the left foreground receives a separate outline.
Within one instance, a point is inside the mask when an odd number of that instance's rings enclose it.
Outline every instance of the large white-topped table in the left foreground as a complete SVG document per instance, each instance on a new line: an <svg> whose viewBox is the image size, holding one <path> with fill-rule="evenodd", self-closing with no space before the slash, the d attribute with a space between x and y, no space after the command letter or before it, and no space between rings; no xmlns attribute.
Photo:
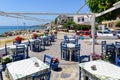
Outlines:
<svg viewBox="0 0 120 80"><path fill-rule="evenodd" d="M35 62L39 66L35 66ZM6 73L10 80L31 80L31 75L48 71L49 66L33 57L7 64Z"/></svg>

